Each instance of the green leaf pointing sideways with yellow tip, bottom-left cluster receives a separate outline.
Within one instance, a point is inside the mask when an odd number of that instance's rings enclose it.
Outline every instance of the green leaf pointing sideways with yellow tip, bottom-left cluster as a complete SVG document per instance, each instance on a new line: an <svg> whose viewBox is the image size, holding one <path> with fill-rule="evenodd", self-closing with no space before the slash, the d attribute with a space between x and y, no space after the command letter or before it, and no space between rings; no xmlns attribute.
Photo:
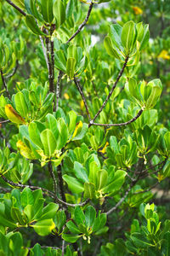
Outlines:
<svg viewBox="0 0 170 256"><path fill-rule="evenodd" d="M55 228L53 219L43 219L30 226L37 232L39 236L48 236Z"/></svg>

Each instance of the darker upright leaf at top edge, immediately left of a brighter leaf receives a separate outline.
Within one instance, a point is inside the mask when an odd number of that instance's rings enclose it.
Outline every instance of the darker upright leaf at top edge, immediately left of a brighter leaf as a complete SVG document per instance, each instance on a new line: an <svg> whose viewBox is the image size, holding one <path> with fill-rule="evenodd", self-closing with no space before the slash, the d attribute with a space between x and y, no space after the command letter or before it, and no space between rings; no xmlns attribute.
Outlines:
<svg viewBox="0 0 170 256"><path fill-rule="evenodd" d="M42 16L43 19L48 22L52 23L54 20L54 15L53 15L53 0L41 0L42 3Z"/></svg>

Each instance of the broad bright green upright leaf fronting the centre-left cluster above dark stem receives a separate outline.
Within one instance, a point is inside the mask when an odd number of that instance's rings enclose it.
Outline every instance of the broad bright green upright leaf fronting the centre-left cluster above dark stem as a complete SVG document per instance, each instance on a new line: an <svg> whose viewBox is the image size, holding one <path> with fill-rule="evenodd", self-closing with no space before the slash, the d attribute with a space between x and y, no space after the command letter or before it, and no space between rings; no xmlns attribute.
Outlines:
<svg viewBox="0 0 170 256"><path fill-rule="evenodd" d="M40 137L41 137L44 153L47 156L51 156L52 154L54 154L54 151L57 147L57 143L52 131L50 131L49 129L46 129L42 131Z"/></svg>

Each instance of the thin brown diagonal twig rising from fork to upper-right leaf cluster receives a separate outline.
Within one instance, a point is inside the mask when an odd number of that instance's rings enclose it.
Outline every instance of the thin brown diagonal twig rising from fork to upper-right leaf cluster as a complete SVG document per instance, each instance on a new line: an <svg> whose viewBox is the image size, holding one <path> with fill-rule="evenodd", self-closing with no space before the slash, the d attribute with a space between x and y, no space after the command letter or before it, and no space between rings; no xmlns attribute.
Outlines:
<svg viewBox="0 0 170 256"><path fill-rule="evenodd" d="M126 59L125 59L125 62L124 62L124 64L123 64L123 67L122 67L120 73L118 74L118 76L117 76L117 78L116 78L115 83L113 84L113 86L112 86L112 88L111 88L111 90L110 90L108 96L107 96L106 99L105 99L105 102L103 102L101 108L99 108L98 113L95 114L94 119L91 120L91 122L90 122L90 124L88 125L88 127L90 127L91 125L94 125L94 120L97 119L97 117L99 116L99 113L101 113L101 111L103 110L103 108L105 108L106 103L109 101L109 99L110 99L110 97L111 97L113 91L114 91L115 88L116 88L116 84L118 83L118 81L119 81L119 80L121 79L121 77L122 77L122 73L124 72L124 69L125 69L125 67L127 66L127 61L128 61L128 55L127 55L127 57L126 57Z"/></svg>

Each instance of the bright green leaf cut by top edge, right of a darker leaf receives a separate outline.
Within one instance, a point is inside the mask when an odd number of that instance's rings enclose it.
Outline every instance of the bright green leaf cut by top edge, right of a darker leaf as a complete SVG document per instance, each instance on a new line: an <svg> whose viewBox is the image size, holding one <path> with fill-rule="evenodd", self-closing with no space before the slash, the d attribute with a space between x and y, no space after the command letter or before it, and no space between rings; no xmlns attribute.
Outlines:
<svg viewBox="0 0 170 256"><path fill-rule="evenodd" d="M55 1L53 12L56 19L56 28L58 28L65 22L65 5L61 0Z"/></svg>

